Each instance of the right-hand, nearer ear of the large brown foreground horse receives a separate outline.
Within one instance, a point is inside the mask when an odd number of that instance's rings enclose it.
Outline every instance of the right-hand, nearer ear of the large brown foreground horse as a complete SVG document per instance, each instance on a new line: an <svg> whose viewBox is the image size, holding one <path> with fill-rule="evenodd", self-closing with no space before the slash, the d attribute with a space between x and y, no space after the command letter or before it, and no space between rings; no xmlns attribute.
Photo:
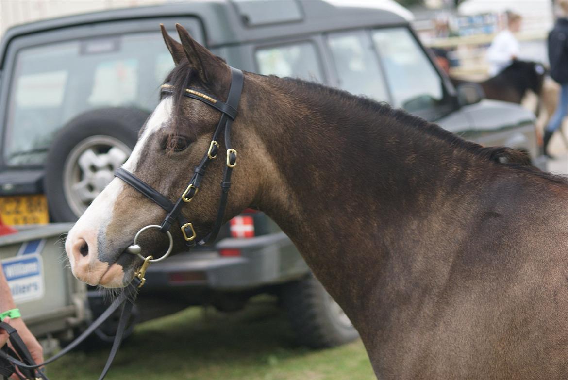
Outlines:
<svg viewBox="0 0 568 380"><path fill-rule="evenodd" d="M176 24L179 40L191 68L204 83L212 83L226 71L227 65L195 41L180 24Z"/></svg>

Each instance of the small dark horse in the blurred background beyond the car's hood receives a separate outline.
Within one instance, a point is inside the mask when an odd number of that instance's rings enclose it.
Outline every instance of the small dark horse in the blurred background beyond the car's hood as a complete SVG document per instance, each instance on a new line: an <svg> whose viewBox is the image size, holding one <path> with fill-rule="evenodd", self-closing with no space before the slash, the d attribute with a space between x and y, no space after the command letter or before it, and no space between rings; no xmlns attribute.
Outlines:
<svg viewBox="0 0 568 380"><path fill-rule="evenodd" d="M520 104L527 94L532 91L540 99L546 70L538 62L513 60L511 65L496 76L482 82L460 80L450 77L454 86L462 83L478 83L487 99ZM540 105L536 108L536 114Z"/></svg>

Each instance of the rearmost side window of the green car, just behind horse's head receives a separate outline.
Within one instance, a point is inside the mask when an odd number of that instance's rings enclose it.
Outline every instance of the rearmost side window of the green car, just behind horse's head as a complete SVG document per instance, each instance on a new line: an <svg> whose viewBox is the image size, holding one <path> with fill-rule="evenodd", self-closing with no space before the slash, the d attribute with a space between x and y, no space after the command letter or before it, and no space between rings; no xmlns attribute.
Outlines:
<svg viewBox="0 0 568 380"><path fill-rule="evenodd" d="M260 74L323 83L318 53L308 41L261 48L255 56Z"/></svg>

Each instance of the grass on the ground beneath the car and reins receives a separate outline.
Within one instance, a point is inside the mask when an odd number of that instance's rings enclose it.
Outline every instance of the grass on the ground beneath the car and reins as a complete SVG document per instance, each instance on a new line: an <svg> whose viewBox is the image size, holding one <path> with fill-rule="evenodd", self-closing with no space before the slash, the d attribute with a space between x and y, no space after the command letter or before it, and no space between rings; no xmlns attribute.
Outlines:
<svg viewBox="0 0 568 380"><path fill-rule="evenodd" d="M48 366L52 379L97 379L108 349L70 353ZM139 324L124 342L108 380L375 379L360 340L311 350L294 333L272 299L257 297L244 310L224 314L190 307Z"/></svg>

